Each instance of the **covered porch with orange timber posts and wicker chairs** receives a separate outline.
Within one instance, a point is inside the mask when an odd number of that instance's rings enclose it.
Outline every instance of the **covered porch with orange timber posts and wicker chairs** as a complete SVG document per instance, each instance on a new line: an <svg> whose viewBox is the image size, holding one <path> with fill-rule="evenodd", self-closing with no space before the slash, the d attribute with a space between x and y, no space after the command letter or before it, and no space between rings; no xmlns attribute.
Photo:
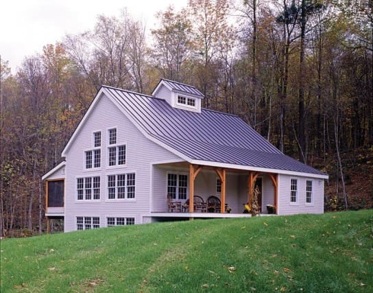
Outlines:
<svg viewBox="0 0 373 293"><path fill-rule="evenodd" d="M154 165L153 173L152 216L250 217L245 204L251 207L255 189L258 213L278 213L278 174L187 162Z"/></svg>

